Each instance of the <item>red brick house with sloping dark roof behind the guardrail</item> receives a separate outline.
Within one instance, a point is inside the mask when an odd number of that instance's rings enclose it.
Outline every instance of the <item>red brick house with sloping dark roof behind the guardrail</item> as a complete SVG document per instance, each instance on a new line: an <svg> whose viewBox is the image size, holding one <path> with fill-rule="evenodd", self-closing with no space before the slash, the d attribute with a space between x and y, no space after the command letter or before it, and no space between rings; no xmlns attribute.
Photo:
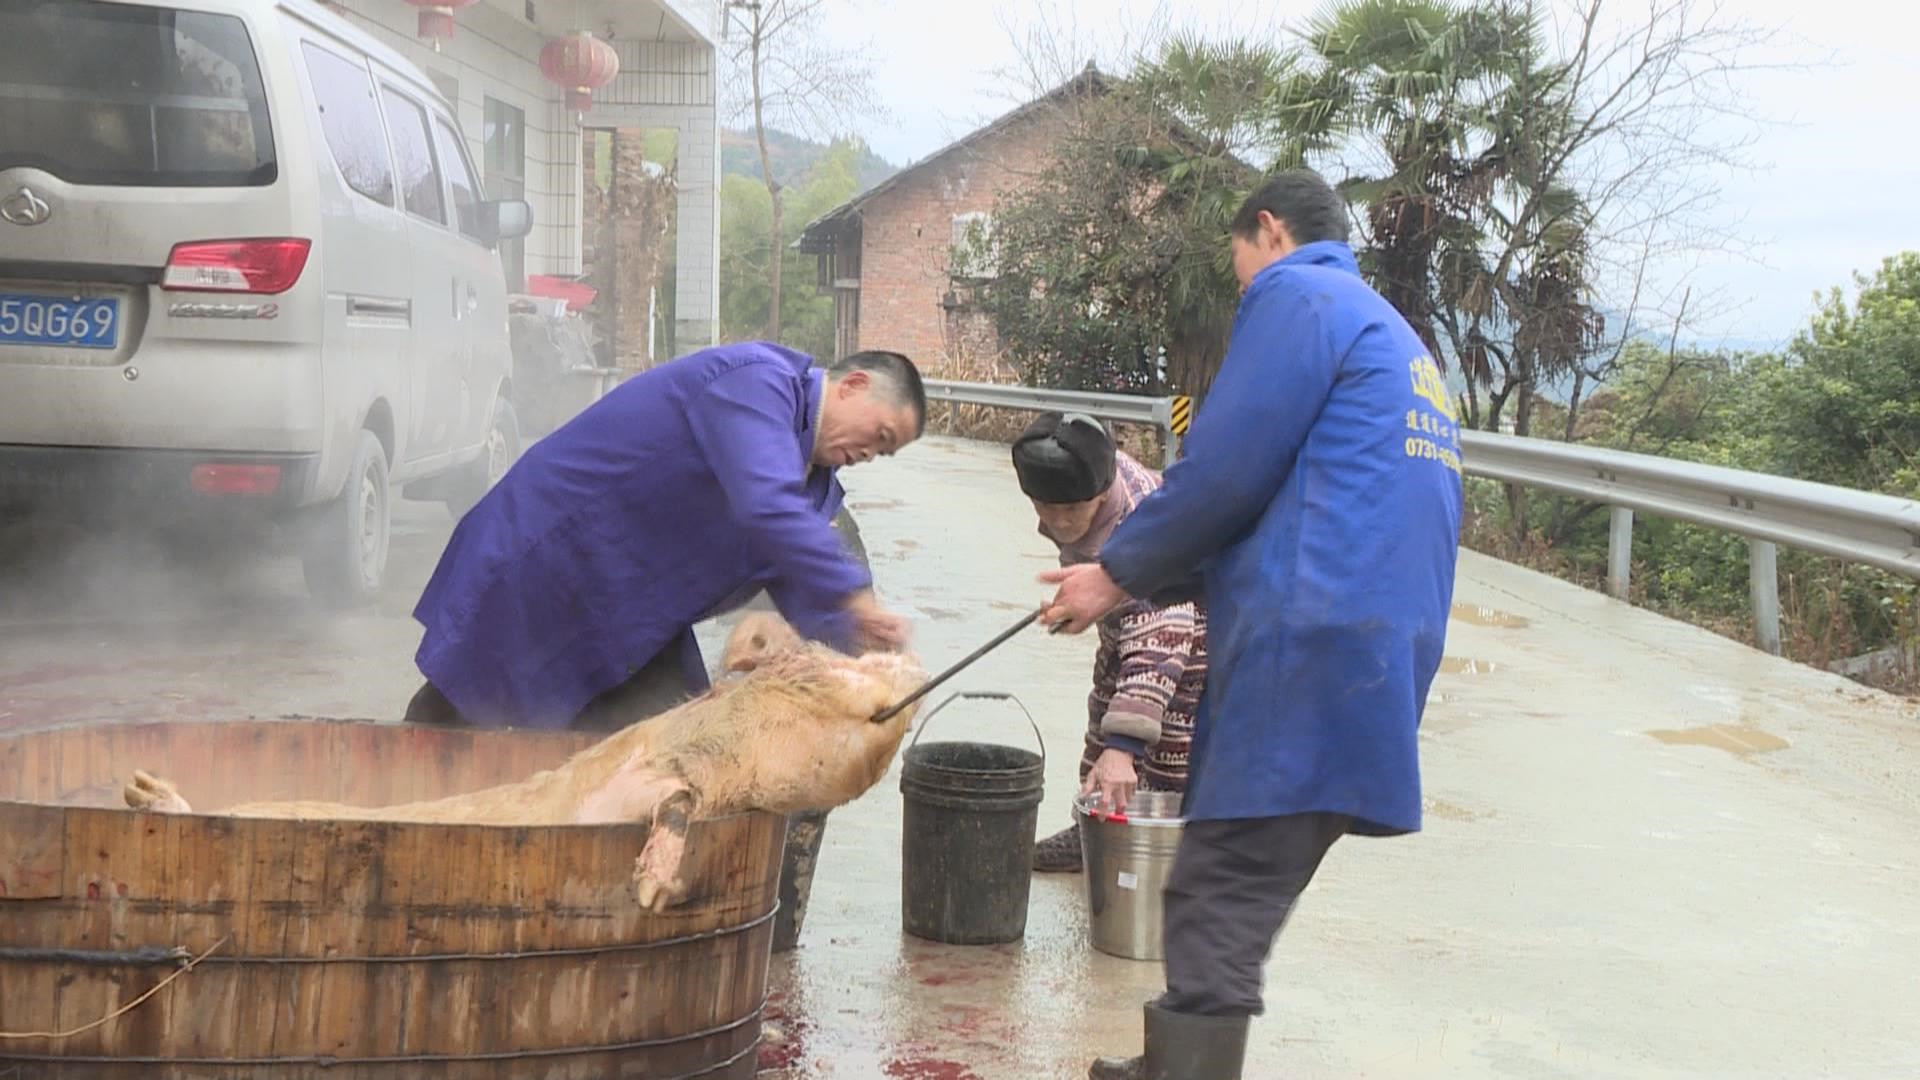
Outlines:
<svg viewBox="0 0 1920 1080"><path fill-rule="evenodd" d="M1108 77L1087 65L808 223L795 246L818 258L818 288L833 296L835 359L889 348L941 371L998 352L985 315L966 304L968 284L991 277L991 259L952 267L950 256L991 233L1000 192L1044 167L1071 104L1108 88Z"/></svg>

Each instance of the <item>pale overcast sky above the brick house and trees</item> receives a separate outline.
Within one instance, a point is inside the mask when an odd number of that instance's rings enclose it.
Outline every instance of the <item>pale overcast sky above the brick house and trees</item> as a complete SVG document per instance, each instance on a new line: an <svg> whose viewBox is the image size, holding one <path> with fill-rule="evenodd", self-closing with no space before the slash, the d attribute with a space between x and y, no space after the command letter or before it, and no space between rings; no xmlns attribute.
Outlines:
<svg viewBox="0 0 1920 1080"><path fill-rule="evenodd" d="M1273 35L1315 12L1300 0L1181 0L1177 27ZM1624 13L1644 4L1622 0ZM1920 250L1920 4L1905 0L1726 0L1749 21L1793 35L1797 56L1830 60L1816 71L1745 79L1757 115L1776 121L1728 173L1726 211L1745 217L1751 258L1667 265L1697 292L1730 307L1695 327L1707 340L1780 340L1812 309L1812 292L1847 284L1884 256ZM883 123L862 135L893 163L939 150L1027 94L1008 79L1021 42L1041 37L1112 65L1142 33L1167 21L1156 0L841 0L829 15L839 42L872 42ZM1778 54L1776 54L1778 56Z"/></svg>

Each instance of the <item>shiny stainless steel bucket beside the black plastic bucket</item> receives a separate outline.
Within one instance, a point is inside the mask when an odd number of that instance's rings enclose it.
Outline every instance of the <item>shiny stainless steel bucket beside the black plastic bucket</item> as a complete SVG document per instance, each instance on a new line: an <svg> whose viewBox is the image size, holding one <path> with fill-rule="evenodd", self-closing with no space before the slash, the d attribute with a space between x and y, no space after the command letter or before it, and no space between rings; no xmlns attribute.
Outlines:
<svg viewBox="0 0 1920 1080"><path fill-rule="evenodd" d="M1085 861L1092 947L1135 961L1164 959L1162 890L1181 844L1179 792L1135 792L1127 811L1108 817L1073 799Z"/></svg>

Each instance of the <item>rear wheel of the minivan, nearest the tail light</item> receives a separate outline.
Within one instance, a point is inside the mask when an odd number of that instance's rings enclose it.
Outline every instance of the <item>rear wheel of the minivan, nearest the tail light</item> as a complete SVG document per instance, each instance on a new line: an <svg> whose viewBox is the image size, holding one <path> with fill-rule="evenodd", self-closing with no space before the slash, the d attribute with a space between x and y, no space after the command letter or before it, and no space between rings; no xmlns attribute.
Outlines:
<svg viewBox="0 0 1920 1080"><path fill-rule="evenodd" d="M386 452L371 430L361 430L340 498L307 530L301 552L307 592L328 607L369 603L386 582L392 515Z"/></svg>

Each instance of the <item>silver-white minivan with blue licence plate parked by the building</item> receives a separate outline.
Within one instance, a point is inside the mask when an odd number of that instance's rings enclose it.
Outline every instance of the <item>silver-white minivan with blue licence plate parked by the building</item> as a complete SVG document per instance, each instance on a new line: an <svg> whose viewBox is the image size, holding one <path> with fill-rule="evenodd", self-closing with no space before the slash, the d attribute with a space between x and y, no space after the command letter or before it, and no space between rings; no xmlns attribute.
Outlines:
<svg viewBox="0 0 1920 1080"><path fill-rule="evenodd" d="M457 117L305 0L0 0L0 519L271 521L371 598L390 498L518 450Z"/></svg>

